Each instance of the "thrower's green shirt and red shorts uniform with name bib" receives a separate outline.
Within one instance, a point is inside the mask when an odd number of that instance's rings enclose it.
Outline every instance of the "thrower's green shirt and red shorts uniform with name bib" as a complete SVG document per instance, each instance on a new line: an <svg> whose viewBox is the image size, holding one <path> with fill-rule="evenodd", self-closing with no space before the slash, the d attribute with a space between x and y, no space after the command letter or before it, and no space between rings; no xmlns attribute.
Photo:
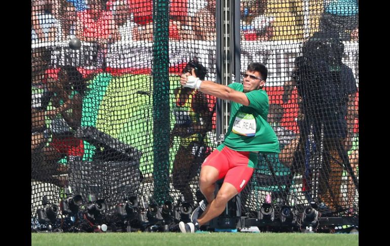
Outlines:
<svg viewBox="0 0 390 246"><path fill-rule="evenodd" d="M230 88L243 92L243 85L233 83ZM245 93L249 106L231 101L230 123L224 143L218 146L203 165L218 169L219 179L241 192L251 179L257 165L257 152L280 153L278 138L268 124L268 95L264 90Z"/></svg>

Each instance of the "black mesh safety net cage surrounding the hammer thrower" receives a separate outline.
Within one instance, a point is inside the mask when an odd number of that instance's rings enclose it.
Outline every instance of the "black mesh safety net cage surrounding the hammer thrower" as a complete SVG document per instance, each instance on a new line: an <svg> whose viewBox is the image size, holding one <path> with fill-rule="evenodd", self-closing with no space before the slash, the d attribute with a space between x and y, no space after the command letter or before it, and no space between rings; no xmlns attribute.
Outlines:
<svg viewBox="0 0 390 246"><path fill-rule="evenodd" d="M268 68L281 152L258 153L237 215L358 217L357 0L234 2L31 1L32 231L189 221L204 199L201 165L230 119L228 102L180 76L240 83L251 62ZM233 42L226 23L238 27L235 71L222 67L233 54L218 60L218 41Z"/></svg>

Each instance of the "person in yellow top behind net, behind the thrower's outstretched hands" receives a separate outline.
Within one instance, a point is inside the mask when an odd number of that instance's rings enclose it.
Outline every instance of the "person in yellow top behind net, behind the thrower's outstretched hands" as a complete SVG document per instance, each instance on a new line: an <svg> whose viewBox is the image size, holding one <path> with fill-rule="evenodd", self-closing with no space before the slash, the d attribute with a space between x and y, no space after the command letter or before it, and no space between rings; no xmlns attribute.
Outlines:
<svg viewBox="0 0 390 246"><path fill-rule="evenodd" d="M192 69L195 69L197 77L205 79L207 69L197 61L188 62L182 74L190 73ZM212 130L215 108L209 108L210 99L200 91L180 86L174 94L176 124L171 131L171 148L175 136L179 137L180 144L173 163L173 186L184 195L186 202L193 205L190 181L211 153L213 143L207 133ZM212 104L215 105L215 99Z"/></svg>

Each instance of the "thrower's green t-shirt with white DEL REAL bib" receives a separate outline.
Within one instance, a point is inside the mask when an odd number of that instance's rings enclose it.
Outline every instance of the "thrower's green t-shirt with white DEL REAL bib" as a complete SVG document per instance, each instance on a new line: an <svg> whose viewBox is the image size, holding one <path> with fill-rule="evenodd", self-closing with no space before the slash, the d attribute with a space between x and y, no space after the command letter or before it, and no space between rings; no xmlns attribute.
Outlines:
<svg viewBox="0 0 390 246"><path fill-rule="evenodd" d="M228 85L233 90L243 92L243 85ZM267 122L268 95L264 90L245 93L249 106L231 101L230 123L224 144L236 151L259 151L280 153L278 137Z"/></svg>

